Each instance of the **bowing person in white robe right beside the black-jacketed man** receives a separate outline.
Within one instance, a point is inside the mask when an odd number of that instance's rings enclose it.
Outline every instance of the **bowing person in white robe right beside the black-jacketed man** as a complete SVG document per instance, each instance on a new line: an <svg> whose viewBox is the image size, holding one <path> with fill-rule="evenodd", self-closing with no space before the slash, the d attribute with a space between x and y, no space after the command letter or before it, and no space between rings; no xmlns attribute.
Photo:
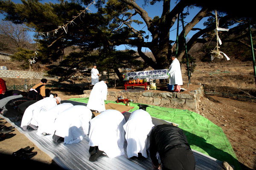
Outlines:
<svg viewBox="0 0 256 170"><path fill-rule="evenodd" d="M139 109L131 113L128 121L123 125L128 158L138 157L138 153L141 153L145 158L148 157L148 136L153 126L152 118L147 111Z"/></svg>

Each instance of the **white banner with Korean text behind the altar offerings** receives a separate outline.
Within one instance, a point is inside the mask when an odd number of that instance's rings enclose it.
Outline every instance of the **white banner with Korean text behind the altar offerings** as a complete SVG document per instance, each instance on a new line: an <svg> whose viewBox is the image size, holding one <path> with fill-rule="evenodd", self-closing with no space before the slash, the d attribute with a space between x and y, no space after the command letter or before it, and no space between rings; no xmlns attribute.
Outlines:
<svg viewBox="0 0 256 170"><path fill-rule="evenodd" d="M131 77L132 79L169 79L169 74L168 69L137 71L123 74L124 80L129 80Z"/></svg>

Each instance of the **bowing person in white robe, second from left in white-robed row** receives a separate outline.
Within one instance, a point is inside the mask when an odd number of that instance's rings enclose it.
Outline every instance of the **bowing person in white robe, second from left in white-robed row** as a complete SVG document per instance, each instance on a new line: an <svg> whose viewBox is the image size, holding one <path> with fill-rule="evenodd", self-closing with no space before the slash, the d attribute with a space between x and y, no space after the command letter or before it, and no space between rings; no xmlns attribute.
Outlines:
<svg viewBox="0 0 256 170"><path fill-rule="evenodd" d="M53 134L55 131L54 122L57 116L72 106L73 104L71 103L61 103L48 111L41 111L39 114L38 133Z"/></svg>

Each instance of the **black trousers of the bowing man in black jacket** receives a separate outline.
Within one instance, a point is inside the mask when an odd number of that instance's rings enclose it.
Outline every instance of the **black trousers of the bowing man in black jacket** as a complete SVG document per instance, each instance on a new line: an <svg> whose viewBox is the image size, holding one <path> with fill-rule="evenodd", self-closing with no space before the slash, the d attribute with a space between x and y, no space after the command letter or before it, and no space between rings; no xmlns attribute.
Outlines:
<svg viewBox="0 0 256 170"><path fill-rule="evenodd" d="M188 147L176 146L160 158L162 170L195 170L195 157Z"/></svg>

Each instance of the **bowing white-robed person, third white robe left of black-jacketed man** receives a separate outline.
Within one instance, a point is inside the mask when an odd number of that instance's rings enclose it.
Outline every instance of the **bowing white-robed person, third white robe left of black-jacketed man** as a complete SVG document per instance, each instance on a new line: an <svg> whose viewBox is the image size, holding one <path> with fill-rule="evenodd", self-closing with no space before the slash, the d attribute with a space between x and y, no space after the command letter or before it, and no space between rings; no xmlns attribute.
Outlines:
<svg viewBox="0 0 256 170"><path fill-rule="evenodd" d="M64 144L80 142L88 134L92 114L84 105L67 108L55 120L55 135L64 138Z"/></svg>

